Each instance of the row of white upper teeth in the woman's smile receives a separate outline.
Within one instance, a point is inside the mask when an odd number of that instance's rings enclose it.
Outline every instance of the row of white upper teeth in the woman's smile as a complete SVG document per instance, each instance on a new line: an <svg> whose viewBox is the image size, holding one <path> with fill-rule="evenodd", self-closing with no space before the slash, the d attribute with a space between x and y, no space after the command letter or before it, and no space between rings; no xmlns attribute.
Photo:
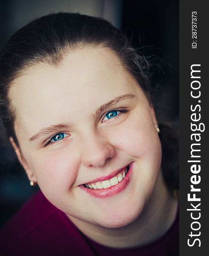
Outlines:
<svg viewBox="0 0 209 256"><path fill-rule="evenodd" d="M127 166L123 173L120 173L118 176L112 177L110 180L103 180L101 182L91 183L91 184L85 184L85 186L89 189L107 189L111 186L117 185L119 182L121 182L125 175L127 174L129 170L129 166Z"/></svg>

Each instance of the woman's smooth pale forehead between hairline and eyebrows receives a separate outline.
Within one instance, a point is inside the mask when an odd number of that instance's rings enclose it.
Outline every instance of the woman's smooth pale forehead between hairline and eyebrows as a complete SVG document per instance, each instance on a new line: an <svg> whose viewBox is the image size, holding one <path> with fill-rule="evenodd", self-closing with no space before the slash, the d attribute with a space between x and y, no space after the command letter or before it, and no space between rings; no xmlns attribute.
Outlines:
<svg viewBox="0 0 209 256"><path fill-rule="evenodd" d="M10 98L17 123L27 128L33 124L30 130L36 130L66 122L66 116L76 122L82 114L133 90L136 81L116 54L98 47L68 54L59 67L30 68L14 82Z"/></svg>

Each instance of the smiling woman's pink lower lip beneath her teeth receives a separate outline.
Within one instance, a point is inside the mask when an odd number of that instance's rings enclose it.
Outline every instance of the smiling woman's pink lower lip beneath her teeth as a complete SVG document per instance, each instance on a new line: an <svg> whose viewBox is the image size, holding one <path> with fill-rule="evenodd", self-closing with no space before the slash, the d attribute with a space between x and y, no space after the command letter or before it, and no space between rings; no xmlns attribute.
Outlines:
<svg viewBox="0 0 209 256"><path fill-rule="evenodd" d="M80 188L96 198L109 198L113 195L119 194L127 187L128 183L130 182L132 173L133 173L133 162L130 163L129 170L126 176L123 178L121 182L119 182L115 186L111 186L107 189L88 189L84 185L82 185L80 186Z"/></svg>

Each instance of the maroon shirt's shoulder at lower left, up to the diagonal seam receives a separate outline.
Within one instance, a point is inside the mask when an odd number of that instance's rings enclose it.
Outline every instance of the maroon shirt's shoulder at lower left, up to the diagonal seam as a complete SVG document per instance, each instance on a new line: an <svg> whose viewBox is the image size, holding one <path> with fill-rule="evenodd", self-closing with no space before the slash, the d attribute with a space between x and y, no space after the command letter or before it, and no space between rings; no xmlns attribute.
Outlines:
<svg viewBox="0 0 209 256"><path fill-rule="evenodd" d="M0 248L2 256L79 255L82 248L91 255L79 230L42 192L29 199L3 228Z"/></svg>

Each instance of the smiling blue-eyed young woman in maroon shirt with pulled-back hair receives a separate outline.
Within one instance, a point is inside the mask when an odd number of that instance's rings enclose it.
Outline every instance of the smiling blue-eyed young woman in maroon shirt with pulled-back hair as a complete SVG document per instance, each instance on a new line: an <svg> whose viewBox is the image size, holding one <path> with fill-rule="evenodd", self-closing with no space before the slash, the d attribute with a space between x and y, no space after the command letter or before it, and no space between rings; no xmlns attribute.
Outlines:
<svg viewBox="0 0 209 256"><path fill-rule="evenodd" d="M149 67L85 15L47 15L8 41L0 112L41 192L2 230L1 255L178 255L176 138L158 127Z"/></svg>

